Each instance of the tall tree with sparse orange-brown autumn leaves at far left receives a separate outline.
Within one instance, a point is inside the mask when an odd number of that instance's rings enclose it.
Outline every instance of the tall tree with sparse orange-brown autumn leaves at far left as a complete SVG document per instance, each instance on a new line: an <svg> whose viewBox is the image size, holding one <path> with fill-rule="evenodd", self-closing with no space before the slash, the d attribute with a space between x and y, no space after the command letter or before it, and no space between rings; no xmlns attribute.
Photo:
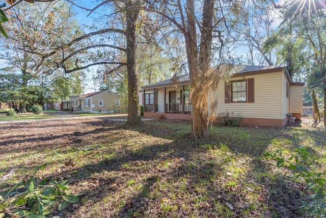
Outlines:
<svg viewBox="0 0 326 218"><path fill-rule="evenodd" d="M19 89L16 89L20 94L16 96L20 96L17 100L18 113L24 113L26 104L32 101L30 95L25 93L42 95L43 91L34 91L35 87L40 85L37 79L44 78L44 75L50 75L55 71L57 66L53 61L60 58L55 54L50 59L43 59L38 52L51 51L53 47L62 44L71 36L67 30L78 31L78 28L76 22L70 19L69 9L61 3L19 4L6 12L10 24L9 39L2 42L6 50L1 52L6 63L13 67L14 75L20 75Z"/></svg>

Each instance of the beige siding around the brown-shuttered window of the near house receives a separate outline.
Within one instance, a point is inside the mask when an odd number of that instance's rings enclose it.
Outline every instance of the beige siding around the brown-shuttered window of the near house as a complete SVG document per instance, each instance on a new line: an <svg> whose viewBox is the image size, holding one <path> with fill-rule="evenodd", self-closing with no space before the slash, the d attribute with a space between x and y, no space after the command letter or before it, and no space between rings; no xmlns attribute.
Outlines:
<svg viewBox="0 0 326 218"><path fill-rule="evenodd" d="M220 81L218 92L215 92L215 98L218 98L218 113L233 111L243 117L283 119L282 75L283 72L279 71L232 78L231 81L254 78L254 103L225 103L224 81Z"/></svg>

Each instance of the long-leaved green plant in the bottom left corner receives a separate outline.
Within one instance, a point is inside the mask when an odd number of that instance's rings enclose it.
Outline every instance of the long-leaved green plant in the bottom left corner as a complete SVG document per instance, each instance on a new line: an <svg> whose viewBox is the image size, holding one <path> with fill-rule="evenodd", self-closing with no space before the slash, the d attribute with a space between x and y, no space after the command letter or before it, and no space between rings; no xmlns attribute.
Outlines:
<svg viewBox="0 0 326 218"><path fill-rule="evenodd" d="M57 203L60 202L58 210L63 210L69 203L78 202L78 196L83 195L72 195L66 180L48 182L45 178L39 183L37 181L30 176L29 180L16 184L5 197L0 196L0 218L8 215L45 218Z"/></svg>

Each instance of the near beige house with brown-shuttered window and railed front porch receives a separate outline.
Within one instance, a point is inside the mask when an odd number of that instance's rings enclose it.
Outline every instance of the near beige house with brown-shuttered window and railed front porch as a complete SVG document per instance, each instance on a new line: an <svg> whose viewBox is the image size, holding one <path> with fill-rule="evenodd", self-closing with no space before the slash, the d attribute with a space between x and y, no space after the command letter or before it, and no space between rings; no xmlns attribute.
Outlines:
<svg viewBox="0 0 326 218"><path fill-rule="evenodd" d="M287 113L301 119L304 83L294 83L288 67L237 66L229 81L208 93L218 100L218 113L233 112L243 117L241 125L284 126ZM144 117L191 119L189 75L141 87L140 105Z"/></svg>

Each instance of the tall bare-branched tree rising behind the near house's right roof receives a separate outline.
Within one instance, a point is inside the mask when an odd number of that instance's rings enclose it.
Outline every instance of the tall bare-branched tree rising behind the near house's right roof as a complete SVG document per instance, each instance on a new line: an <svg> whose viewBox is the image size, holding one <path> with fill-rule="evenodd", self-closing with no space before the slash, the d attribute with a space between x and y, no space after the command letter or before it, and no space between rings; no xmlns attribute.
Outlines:
<svg viewBox="0 0 326 218"><path fill-rule="evenodd" d="M232 22L228 45L232 58L238 57L247 65L275 65L277 47L264 50L263 42L276 31L278 11L265 0L244 1L241 7L243 9L238 13L227 14L227 19Z"/></svg>

